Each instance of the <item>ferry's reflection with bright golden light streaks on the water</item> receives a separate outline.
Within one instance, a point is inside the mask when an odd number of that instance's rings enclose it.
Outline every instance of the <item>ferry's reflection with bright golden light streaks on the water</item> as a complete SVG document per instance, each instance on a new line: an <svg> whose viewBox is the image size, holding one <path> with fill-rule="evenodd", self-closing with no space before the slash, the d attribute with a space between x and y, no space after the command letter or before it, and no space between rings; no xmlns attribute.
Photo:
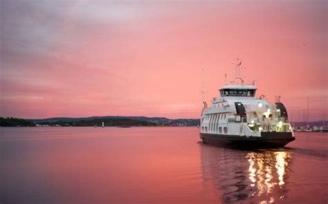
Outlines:
<svg viewBox="0 0 328 204"><path fill-rule="evenodd" d="M288 194L292 152L201 146L203 185L223 203L279 203Z"/></svg>

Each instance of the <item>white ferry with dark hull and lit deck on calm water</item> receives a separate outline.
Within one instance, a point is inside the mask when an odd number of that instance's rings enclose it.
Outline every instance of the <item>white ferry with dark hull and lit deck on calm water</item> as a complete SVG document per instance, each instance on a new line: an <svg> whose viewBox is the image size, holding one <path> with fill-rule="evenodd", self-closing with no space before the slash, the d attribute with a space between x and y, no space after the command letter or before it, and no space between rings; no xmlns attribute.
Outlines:
<svg viewBox="0 0 328 204"><path fill-rule="evenodd" d="M236 63L236 78L219 90L221 97L208 105L203 94L203 110L199 128L201 140L210 145L238 147L284 147L295 140L286 107L276 96L269 103L264 95L256 97L257 87L244 84L237 75L241 61Z"/></svg>

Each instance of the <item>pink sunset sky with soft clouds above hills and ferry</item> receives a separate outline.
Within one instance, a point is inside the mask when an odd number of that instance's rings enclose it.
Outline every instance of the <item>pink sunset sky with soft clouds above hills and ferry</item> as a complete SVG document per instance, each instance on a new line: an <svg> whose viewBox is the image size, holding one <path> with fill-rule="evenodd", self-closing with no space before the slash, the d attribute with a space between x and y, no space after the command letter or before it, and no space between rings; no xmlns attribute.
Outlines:
<svg viewBox="0 0 328 204"><path fill-rule="evenodd" d="M0 116L197 118L242 57L293 121L328 119L327 1L1 1ZM298 111L300 107L301 111Z"/></svg>

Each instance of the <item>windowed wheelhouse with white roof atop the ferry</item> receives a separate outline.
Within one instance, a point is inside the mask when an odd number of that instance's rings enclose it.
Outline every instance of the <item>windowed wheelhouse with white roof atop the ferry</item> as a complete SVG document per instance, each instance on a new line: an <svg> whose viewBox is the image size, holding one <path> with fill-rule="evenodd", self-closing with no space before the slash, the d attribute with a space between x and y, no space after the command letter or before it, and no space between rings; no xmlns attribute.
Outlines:
<svg viewBox="0 0 328 204"><path fill-rule="evenodd" d="M257 88L255 85L225 85L219 90L221 97L243 96L254 97Z"/></svg>

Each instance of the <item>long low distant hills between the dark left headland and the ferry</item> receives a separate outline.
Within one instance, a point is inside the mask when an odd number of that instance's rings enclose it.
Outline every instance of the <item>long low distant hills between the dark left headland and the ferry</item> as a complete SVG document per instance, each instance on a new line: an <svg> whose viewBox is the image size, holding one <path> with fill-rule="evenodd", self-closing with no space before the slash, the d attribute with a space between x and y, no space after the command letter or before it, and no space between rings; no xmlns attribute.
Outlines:
<svg viewBox="0 0 328 204"><path fill-rule="evenodd" d="M72 125L72 126L197 126L199 119L167 119L165 117L146 116L91 116L82 118L55 117L48 119L28 119L39 125Z"/></svg>

